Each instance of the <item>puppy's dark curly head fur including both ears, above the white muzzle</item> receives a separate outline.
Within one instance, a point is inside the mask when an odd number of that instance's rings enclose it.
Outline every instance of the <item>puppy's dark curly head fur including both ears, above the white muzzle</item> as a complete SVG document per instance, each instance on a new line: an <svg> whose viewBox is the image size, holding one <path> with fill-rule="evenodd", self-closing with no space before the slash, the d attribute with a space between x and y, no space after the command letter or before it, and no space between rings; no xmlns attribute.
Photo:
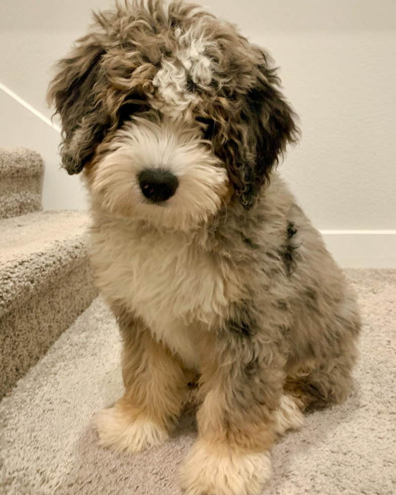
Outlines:
<svg viewBox="0 0 396 495"><path fill-rule="evenodd" d="M298 135L261 48L197 6L155 0L95 15L92 31L59 64L48 99L60 111L70 174L123 116L155 108L200 119L235 191L251 208L287 142ZM109 136L110 135L110 136Z"/></svg>

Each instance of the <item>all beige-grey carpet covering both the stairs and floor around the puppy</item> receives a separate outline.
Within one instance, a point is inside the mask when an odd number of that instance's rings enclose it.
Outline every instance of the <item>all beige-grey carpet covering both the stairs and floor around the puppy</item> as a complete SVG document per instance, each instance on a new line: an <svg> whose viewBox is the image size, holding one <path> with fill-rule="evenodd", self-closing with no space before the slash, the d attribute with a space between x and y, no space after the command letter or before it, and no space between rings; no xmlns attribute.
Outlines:
<svg viewBox="0 0 396 495"><path fill-rule="evenodd" d="M36 154L0 149L2 185L16 177L13 157L18 177L37 184ZM3 186L0 207L3 218L20 215L0 220L0 495L181 495L175 472L196 437L191 408L152 451L97 444L92 417L123 391L119 333L100 298L87 308L96 290L85 215L37 211L29 180ZM263 495L396 493L396 270L346 274L364 321L355 389L279 439Z"/></svg>

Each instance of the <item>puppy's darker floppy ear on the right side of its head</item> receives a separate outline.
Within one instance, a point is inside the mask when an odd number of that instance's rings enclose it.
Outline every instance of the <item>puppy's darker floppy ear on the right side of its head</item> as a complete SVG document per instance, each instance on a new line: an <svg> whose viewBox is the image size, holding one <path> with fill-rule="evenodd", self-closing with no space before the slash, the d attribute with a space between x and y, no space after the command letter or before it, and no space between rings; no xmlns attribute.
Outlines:
<svg viewBox="0 0 396 495"><path fill-rule="evenodd" d="M286 144L295 143L300 133L294 123L296 115L279 91L276 69L268 68L268 56L261 50L259 56L254 83L242 99L239 119L228 129L226 165L246 210L256 204Z"/></svg>

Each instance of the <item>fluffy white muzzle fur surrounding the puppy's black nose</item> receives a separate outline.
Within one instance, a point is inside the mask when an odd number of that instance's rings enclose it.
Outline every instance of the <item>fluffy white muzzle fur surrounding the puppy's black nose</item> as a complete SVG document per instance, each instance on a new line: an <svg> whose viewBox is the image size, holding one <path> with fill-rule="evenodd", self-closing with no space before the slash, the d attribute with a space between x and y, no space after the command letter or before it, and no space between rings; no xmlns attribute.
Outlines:
<svg viewBox="0 0 396 495"><path fill-rule="evenodd" d="M145 199L138 180L142 170L156 168L179 181L175 194L161 205ZM115 216L188 229L216 214L228 177L199 127L135 117L117 132L88 186L93 202Z"/></svg>

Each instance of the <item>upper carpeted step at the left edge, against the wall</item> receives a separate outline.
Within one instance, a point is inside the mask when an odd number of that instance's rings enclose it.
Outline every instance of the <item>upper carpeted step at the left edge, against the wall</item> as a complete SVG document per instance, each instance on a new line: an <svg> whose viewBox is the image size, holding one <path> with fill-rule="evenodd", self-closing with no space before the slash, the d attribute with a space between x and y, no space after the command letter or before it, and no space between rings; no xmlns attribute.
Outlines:
<svg viewBox="0 0 396 495"><path fill-rule="evenodd" d="M0 147L0 219L41 210L43 167L34 151Z"/></svg>

